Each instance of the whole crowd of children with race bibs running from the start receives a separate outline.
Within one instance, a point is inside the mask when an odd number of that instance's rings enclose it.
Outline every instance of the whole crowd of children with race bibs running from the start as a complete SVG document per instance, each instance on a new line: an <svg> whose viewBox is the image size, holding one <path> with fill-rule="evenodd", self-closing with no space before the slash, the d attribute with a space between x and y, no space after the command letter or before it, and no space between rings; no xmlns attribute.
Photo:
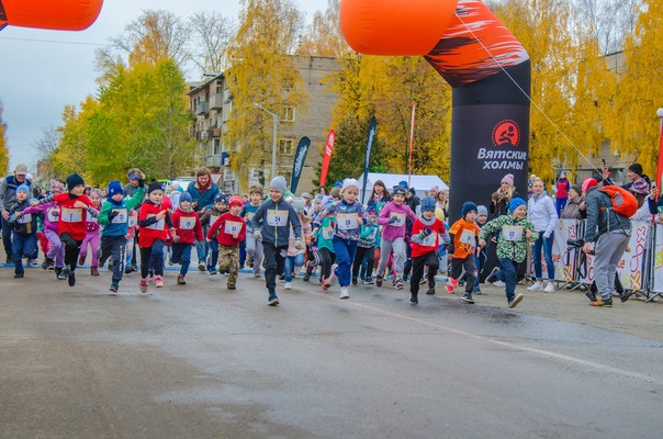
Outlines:
<svg viewBox="0 0 663 439"><path fill-rule="evenodd" d="M241 247L254 277L260 278L265 269L271 306L280 303L277 278L289 290L302 268L305 282L319 272L323 291L337 279L341 300L350 297L350 285L359 280L373 284L373 270L377 286L391 277L394 288L402 290L412 268L409 302L417 304L420 284L426 284L426 294L436 293L436 274L447 271L447 292L453 294L463 283L461 300L472 304L473 294L481 293L482 247L493 237L508 304L522 300L515 294L516 266L537 232L526 218L527 204L518 198L510 201L508 215L492 222L486 222L485 206L468 201L461 217L449 227L439 198L431 193L419 205L413 204L405 183L390 193L375 182L364 205L355 179L338 182L329 194L321 191L312 198L304 193L300 201L293 200L285 178L279 176L270 181L267 196L256 184L245 200L218 192L202 205L202 198L193 201L191 192L182 189L167 196L161 183L146 184L138 169L131 170L130 179L131 187L111 181L102 193L88 191L83 179L71 175L66 189L54 181L50 194L41 200L30 199L29 188L19 185L9 218L14 277L24 277L22 260L34 259L40 234L44 270L54 270L74 286L76 269L89 251L90 274L99 275L99 267L108 263L113 294L123 275L137 269L136 246L142 293L147 293L150 280L156 288L164 286L166 261L181 266L177 284L187 284L194 247L199 269L216 274L218 267L218 272L228 274L227 289L235 290ZM210 190L207 183L204 193Z"/></svg>

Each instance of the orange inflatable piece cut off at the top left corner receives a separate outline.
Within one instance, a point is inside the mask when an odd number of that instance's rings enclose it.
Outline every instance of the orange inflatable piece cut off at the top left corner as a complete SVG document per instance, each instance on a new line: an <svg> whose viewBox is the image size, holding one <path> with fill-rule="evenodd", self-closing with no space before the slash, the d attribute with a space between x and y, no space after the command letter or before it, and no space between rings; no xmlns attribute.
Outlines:
<svg viewBox="0 0 663 439"><path fill-rule="evenodd" d="M101 12L103 0L0 0L0 29L21 27L82 31Z"/></svg>

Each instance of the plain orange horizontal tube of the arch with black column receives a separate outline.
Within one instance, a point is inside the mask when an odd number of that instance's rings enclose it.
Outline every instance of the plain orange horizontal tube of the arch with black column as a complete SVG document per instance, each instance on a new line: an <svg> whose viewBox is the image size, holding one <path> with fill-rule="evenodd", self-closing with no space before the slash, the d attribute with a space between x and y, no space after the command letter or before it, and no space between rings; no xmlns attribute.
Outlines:
<svg viewBox="0 0 663 439"><path fill-rule="evenodd" d="M427 55L456 13L458 0L342 0L348 45L368 55Z"/></svg>

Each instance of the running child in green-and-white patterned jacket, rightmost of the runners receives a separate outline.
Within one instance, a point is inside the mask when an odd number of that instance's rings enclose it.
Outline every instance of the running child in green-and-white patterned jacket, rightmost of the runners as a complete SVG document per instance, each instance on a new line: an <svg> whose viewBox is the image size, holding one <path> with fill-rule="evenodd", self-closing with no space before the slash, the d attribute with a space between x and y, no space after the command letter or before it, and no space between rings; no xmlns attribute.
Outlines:
<svg viewBox="0 0 663 439"><path fill-rule="evenodd" d="M538 233L535 225L527 219L527 203L520 198L509 202L510 215L502 215L486 223L479 234L479 245L486 245L486 237L499 232L497 237L497 258L499 270L494 270L488 278L504 281L508 307L513 308L522 301L522 294L516 292L518 264L527 256L527 245L533 243ZM529 243L528 243L529 241ZM486 279L486 282L491 282Z"/></svg>

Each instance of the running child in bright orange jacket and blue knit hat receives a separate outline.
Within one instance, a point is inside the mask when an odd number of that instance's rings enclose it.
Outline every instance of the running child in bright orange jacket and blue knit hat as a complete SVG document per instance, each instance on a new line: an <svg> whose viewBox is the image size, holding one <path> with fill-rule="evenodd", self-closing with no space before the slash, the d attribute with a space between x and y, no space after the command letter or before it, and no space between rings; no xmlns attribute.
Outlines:
<svg viewBox="0 0 663 439"><path fill-rule="evenodd" d="M474 291L474 282L476 280L476 261L474 254L476 251L476 237L480 234L480 228L475 223L476 204L468 201L461 209L461 218L458 219L449 229L450 244L448 247L449 255L447 259L451 261L449 270L449 280L447 281L447 292L454 293L458 285L458 278L462 270L465 270L465 294L461 301L473 304L472 292Z"/></svg>

